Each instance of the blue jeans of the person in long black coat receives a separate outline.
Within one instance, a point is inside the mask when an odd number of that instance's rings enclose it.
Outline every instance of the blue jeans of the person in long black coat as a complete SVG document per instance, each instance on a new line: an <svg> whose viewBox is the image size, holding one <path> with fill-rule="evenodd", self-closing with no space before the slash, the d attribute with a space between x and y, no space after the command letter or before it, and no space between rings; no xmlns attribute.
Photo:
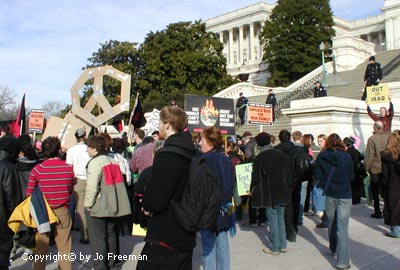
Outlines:
<svg viewBox="0 0 400 270"><path fill-rule="evenodd" d="M287 248L286 231L285 231L285 207L277 206L276 208L266 208L268 225L269 225L269 247L273 252L279 252L280 249Z"/></svg>

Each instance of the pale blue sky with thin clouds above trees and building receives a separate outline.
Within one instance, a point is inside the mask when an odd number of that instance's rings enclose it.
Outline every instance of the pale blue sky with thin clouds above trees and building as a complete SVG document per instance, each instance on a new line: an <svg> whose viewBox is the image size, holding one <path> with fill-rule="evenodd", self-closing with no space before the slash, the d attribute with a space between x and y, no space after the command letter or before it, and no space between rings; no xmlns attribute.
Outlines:
<svg viewBox="0 0 400 270"><path fill-rule="evenodd" d="M0 9L0 85L26 93L26 106L69 104L69 89L100 43L142 43L150 31L203 21L257 0L10 0ZM275 1L264 1L274 3ZM381 13L384 0L331 0L336 17L352 21Z"/></svg>

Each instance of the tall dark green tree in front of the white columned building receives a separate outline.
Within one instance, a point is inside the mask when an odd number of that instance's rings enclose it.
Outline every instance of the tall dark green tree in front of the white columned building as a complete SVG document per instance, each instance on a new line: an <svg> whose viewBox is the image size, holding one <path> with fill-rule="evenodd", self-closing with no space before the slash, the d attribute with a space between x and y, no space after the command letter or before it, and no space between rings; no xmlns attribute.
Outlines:
<svg viewBox="0 0 400 270"><path fill-rule="evenodd" d="M278 0L261 33L268 84L294 82L321 65L318 45L334 36L332 16L329 0Z"/></svg>

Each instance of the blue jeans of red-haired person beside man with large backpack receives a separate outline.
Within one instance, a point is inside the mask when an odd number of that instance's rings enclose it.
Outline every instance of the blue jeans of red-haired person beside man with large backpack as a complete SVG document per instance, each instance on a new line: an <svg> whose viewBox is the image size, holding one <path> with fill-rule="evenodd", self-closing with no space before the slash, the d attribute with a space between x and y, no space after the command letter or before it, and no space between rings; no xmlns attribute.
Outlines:
<svg viewBox="0 0 400 270"><path fill-rule="evenodd" d="M221 231L218 235L211 230L200 231L203 247L204 270L229 270L230 254L228 232Z"/></svg>

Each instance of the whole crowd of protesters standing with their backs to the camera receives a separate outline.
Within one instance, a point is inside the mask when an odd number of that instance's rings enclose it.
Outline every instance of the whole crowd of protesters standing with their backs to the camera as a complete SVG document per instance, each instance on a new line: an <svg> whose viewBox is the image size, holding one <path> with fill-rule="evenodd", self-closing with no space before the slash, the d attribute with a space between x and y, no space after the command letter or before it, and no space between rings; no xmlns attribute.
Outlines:
<svg viewBox="0 0 400 270"><path fill-rule="evenodd" d="M246 131L223 137L220 130L209 127L191 136L185 131L185 112L174 106L161 110L157 132L145 136L136 129L131 143L126 137L112 139L107 133L86 138L80 128L74 134L76 145L63 151L56 137L34 144L26 134L18 139L5 134L0 138L0 268L9 267L10 251L16 245L7 221L17 205L39 188L58 222L51 231L37 233L36 254L46 254L52 239L60 254L69 253L71 230L77 228L80 244L104 255L94 269L109 269L120 261L106 254L119 254L119 236L130 234L136 223L147 229L141 253L147 260L138 262L137 269L192 269L196 234L179 225L170 207L170 200L182 198L190 160L158 151L163 146L177 147L189 155L203 153L220 181L223 204L234 209L230 214L222 211L215 227L199 232L204 269L230 269L228 238L234 237L237 224L265 227L269 246L260 248L265 254L290 252L288 242L296 242L304 215L317 216L317 228L328 229L335 267L350 268L351 207L369 195L364 189L368 175L374 202L371 217L384 218L390 226L386 236L400 237L400 176L396 171L400 135L381 120L373 124L365 154L357 149L358 137L341 138L336 133L314 134L318 145L313 134L285 129L276 136L267 132L253 136ZM306 177L293 166L299 153L310 160ZM253 164L251 192L239 197L235 166L243 163ZM248 220L243 220L246 210ZM33 265L45 269L46 262ZM72 266L60 260L59 267Z"/></svg>

